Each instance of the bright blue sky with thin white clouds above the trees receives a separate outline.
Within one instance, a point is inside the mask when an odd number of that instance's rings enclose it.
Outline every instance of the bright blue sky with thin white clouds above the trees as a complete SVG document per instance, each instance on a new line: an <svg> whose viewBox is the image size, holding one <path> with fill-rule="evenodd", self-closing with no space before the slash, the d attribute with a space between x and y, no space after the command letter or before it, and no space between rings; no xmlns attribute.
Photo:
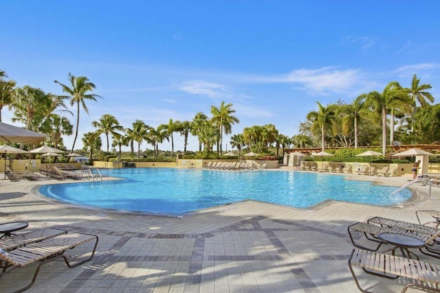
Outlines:
<svg viewBox="0 0 440 293"><path fill-rule="evenodd" d="M316 102L409 86L413 74L439 97L439 11L440 1L8 1L0 69L55 94L54 80L87 76L104 99L81 112L80 137L103 114L157 127L222 101L240 119L233 134L274 124L290 137Z"/></svg>

